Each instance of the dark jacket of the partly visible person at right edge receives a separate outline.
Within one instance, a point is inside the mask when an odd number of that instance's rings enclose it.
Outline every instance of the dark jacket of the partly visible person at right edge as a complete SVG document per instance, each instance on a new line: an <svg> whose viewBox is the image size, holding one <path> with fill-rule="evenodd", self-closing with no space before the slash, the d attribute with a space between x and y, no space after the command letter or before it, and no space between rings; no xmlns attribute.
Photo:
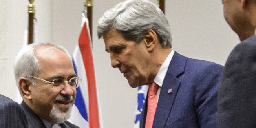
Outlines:
<svg viewBox="0 0 256 128"><path fill-rule="evenodd" d="M256 35L230 53L218 94L218 128L256 128Z"/></svg>

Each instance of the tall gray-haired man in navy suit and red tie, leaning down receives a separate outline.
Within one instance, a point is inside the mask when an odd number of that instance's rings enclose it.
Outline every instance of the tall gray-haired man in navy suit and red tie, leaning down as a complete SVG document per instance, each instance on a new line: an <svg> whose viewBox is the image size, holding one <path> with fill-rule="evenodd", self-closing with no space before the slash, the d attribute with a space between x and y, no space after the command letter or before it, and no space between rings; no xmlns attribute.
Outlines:
<svg viewBox="0 0 256 128"><path fill-rule="evenodd" d="M132 88L148 84L141 128L216 126L223 66L180 55L171 48L168 21L148 0L127 0L99 19L111 65Z"/></svg>

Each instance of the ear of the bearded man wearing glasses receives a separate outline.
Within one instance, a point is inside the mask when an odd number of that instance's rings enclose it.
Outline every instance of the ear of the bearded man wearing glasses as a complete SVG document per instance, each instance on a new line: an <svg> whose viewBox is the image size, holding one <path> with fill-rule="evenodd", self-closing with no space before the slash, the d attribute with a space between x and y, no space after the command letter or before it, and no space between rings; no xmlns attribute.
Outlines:
<svg viewBox="0 0 256 128"><path fill-rule="evenodd" d="M24 77L21 77L19 79L19 87L20 87L21 93L23 97L26 99L32 99L29 86L33 86L33 85L31 84L31 82L29 82L28 79Z"/></svg>

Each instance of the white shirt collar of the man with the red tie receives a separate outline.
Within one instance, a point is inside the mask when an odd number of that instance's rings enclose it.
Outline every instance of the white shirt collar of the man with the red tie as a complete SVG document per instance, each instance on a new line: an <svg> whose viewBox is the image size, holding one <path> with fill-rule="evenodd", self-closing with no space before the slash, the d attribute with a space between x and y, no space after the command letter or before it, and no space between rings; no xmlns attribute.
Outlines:
<svg viewBox="0 0 256 128"><path fill-rule="evenodd" d="M162 87L163 85L163 80L166 76L166 72L168 70L168 67L169 67L170 61L172 60L173 55L174 55L174 51L172 50L167 56L166 60L163 62L159 71L157 72L156 77L154 78L154 82L160 87Z"/></svg>

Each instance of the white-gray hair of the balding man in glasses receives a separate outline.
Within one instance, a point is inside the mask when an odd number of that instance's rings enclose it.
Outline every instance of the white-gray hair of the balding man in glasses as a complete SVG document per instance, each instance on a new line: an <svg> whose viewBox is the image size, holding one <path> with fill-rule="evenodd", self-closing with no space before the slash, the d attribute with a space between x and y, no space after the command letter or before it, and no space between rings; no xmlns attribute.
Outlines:
<svg viewBox="0 0 256 128"><path fill-rule="evenodd" d="M62 46L52 43L29 44L20 50L15 59L14 73L17 86L20 77L27 78L33 85L35 85L35 79L31 79L31 76L37 77L41 71L40 65L38 64L38 59L35 55L38 46L55 47L66 53L66 55L68 55L68 57L71 59L70 55L68 54L68 51Z"/></svg>

